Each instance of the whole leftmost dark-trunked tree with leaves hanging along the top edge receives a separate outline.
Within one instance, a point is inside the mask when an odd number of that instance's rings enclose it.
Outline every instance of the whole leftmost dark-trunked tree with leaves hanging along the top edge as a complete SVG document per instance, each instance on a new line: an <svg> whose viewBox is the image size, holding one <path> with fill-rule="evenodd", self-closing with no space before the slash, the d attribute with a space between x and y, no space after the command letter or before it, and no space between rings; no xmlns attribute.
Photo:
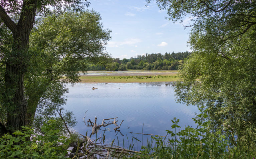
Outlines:
<svg viewBox="0 0 256 159"><path fill-rule="evenodd" d="M85 5L88 3L85 0ZM1 87L1 108L5 110L6 121L0 123L0 134L12 133L25 125L27 100L24 96L24 75L27 72L30 55L29 36L36 14L61 10L65 7L81 9L81 0L1 0L0 18L12 34L10 51L1 52L1 63L5 71ZM49 10L47 7L53 9ZM12 15L18 16L15 23Z"/></svg>

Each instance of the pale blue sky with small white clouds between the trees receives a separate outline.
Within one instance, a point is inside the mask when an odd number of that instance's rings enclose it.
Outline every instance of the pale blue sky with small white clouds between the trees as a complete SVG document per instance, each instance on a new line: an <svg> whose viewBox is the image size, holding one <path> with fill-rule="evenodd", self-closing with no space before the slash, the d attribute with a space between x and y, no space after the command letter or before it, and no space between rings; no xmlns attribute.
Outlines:
<svg viewBox="0 0 256 159"><path fill-rule="evenodd" d="M190 28L183 26L188 20L183 24L168 21L167 11L160 11L154 2L146 7L146 0L89 1L88 9L99 12L104 28L112 31L106 51L114 58L190 50L187 46Z"/></svg>

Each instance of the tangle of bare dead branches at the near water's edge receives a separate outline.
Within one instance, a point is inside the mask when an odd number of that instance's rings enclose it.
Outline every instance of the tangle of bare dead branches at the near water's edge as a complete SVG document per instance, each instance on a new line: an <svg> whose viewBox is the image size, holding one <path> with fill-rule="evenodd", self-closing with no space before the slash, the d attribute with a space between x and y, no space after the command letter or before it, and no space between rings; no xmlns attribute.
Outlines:
<svg viewBox="0 0 256 159"><path fill-rule="evenodd" d="M87 112L87 111L86 111ZM85 112L85 114L86 114ZM113 145L113 141L112 143L109 144L104 144L104 139L105 136L103 137L98 137L95 140L92 140L90 137L92 134L97 133L97 130L100 127L105 127L107 125L111 125L111 124L115 124L116 127L114 128L115 132L117 131L120 132L119 128L123 122L123 120L121 121L121 123L118 125L117 124L117 117L116 118L109 118L109 119L103 119L101 124L97 125L97 118L94 118L94 122L92 122L90 119L85 121L85 117L86 115L84 115L83 118L83 122L86 124L86 126L92 127L92 132L90 134L90 136L87 136L87 132L86 135L82 135L80 134L83 138L79 139L79 141L77 141L76 143L73 144L73 149L71 150L71 153L69 154L70 158L84 158L84 159L91 159L91 158L120 158L123 156L126 157L135 157L135 158L140 158L140 156L138 154L140 154L141 152L139 151L133 151L133 150L129 150L129 149L125 149L119 146L115 146ZM113 121L111 119L114 119ZM107 121L107 122L106 122ZM123 135L120 132L121 135Z"/></svg>

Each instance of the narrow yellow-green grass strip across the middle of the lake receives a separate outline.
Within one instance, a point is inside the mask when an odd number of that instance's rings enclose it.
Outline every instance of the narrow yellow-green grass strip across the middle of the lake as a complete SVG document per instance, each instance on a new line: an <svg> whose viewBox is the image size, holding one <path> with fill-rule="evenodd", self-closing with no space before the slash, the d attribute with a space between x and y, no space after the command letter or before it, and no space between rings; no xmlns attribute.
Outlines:
<svg viewBox="0 0 256 159"><path fill-rule="evenodd" d="M150 78L149 78L150 77ZM157 76L81 76L83 83L147 83L147 82L176 82L177 75Z"/></svg>

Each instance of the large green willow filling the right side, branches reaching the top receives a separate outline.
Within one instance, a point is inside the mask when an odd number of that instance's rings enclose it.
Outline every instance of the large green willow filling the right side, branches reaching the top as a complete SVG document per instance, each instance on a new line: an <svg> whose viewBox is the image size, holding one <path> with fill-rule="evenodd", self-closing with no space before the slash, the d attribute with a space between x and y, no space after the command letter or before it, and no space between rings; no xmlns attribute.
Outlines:
<svg viewBox="0 0 256 159"><path fill-rule="evenodd" d="M178 101L207 112L212 127L223 128L231 140L234 134L249 135L245 129L256 124L255 1L156 3L168 11L169 20L191 16L193 53L180 73Z"/></svg>

